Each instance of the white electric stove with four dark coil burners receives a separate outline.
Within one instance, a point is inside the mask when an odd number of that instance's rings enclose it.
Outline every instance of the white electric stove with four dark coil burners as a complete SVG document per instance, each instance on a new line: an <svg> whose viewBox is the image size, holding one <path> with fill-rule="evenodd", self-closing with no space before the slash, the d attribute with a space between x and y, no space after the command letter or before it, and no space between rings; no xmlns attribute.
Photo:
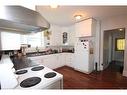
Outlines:
<svg viewBox="0 0 127 95"><path fill-rule="evenodd" d="M62 89L63 75L43 65L23 68L15 72L18 85L15 89Z"/></svg>

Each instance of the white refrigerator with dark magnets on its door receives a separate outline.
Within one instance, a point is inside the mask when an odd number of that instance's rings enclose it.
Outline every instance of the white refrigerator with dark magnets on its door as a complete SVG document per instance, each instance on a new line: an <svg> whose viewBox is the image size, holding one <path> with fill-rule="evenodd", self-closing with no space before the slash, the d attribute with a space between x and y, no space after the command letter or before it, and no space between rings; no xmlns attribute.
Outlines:
<svg viewBox="0 0 127 95"><path fill-rule="evenodd" d="M89 74L94 70L94 47L92 38L77 38L74 69Z"/></svg>

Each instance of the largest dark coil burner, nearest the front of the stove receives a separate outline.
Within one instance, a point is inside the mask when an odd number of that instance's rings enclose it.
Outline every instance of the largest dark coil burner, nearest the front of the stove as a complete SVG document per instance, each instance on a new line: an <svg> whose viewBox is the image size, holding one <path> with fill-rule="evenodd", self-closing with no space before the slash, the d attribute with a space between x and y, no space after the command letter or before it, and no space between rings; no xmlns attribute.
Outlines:
<svg viewBox="0 0 127 95"><path fill-rule="evenodd" d="M30 78L23 80L20 83L20 86L23 88L32 87L32 86L35 86L36 84L40 83L40 81L41 81L41 78L39 78L39 77L30 77Z"/></svg>

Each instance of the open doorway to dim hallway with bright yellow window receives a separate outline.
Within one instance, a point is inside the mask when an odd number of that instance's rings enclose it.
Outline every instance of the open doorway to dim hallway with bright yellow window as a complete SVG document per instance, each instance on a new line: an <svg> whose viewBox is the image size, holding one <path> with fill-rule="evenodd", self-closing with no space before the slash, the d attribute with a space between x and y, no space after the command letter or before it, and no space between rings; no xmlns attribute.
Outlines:
<svg viewBox="0 0 127 95"><path fill-rule="evenodd" d="M125 28L104 31L103 68L122 73L124 66Z"/></svg>

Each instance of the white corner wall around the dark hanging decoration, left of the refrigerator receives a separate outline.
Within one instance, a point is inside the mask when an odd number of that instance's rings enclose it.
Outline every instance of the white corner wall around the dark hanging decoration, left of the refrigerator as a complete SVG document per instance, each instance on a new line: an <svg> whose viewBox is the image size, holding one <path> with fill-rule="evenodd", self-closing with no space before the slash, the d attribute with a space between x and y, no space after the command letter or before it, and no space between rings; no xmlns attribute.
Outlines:
<svg viewBox="0 0 127 95"><path fill-rule="evenodd" d="M51 46L59 46L63 45L63 32L68 33L68 45L74 45L75 42L75 28L74 25L62 27L58 25L51 25L49 29L51 31L50 35L50 45Z"/></svg>

